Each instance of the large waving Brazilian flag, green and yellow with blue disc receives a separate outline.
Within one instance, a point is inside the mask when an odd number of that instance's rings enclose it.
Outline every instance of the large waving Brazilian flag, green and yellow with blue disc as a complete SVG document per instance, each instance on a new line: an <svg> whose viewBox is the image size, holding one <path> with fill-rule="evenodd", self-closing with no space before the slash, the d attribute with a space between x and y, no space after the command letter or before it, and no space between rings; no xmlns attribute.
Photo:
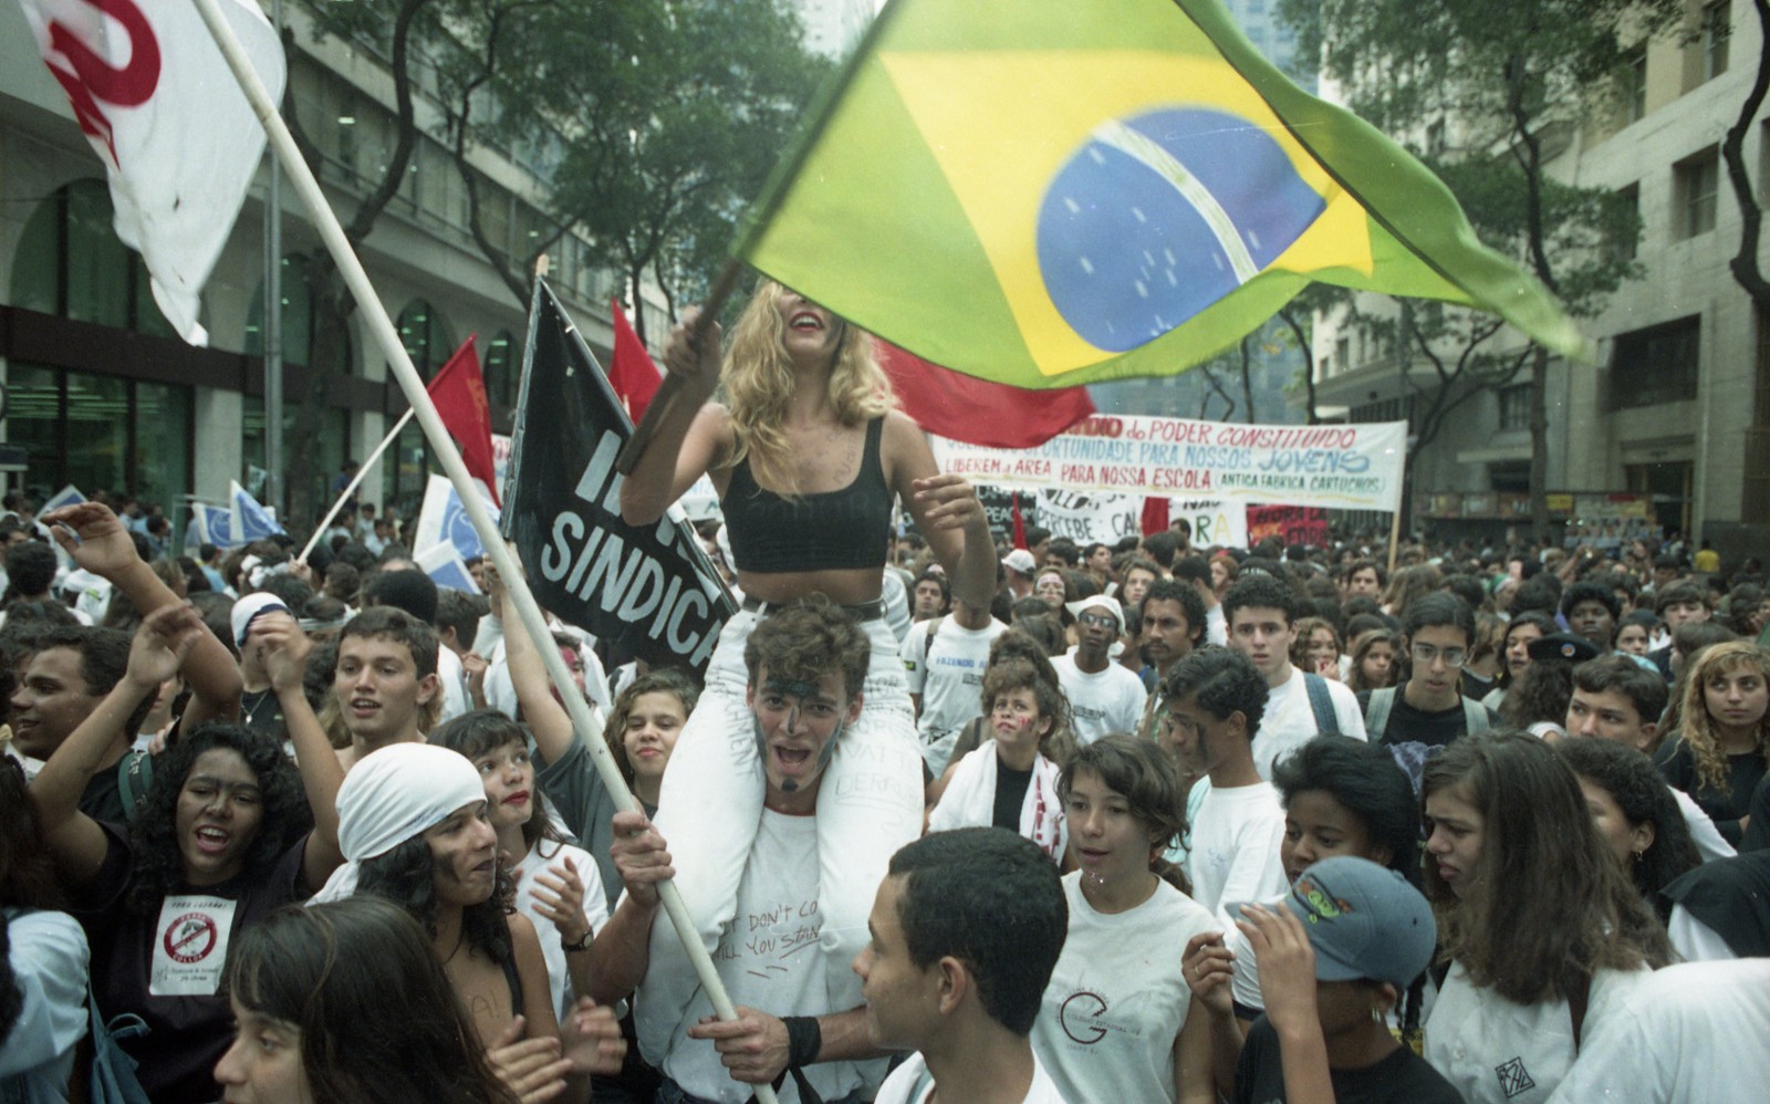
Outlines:
<svg viewBox="0 0 1770 1104"><path fill-rule="evenodd" d="M1216 0L892 0L733 253L1020 387L1179 372L1312 280L1588 350L1437 177Z"/></svg>

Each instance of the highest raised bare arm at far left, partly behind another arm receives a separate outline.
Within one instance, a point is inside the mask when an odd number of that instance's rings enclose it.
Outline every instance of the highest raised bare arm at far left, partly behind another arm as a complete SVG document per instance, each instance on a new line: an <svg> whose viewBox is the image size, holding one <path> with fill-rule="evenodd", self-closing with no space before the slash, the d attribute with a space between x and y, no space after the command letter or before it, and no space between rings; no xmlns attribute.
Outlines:
<svg viewBox="0 0 1770 1104"><path fill-rule="evenodd" d="M136 554L129 531L110 506L99 502L64 506L42 515L42 520L51 525L55 543L62 545L74 563L110 580L143 617L170 605L184 605L184 600ZM74 540L76 536L80 540ZM193 694L189 720L195 724L211 717L234 718L239 715L242 686L239 667L227 646L216 640L202 621L196 625L202 632L177 672L184 676Z"/></svg>

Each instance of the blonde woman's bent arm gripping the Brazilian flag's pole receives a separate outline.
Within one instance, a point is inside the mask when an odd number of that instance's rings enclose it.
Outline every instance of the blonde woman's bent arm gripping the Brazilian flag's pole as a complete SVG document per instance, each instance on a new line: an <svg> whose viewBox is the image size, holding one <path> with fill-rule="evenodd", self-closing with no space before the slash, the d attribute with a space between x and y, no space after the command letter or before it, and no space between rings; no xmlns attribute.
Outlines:
<svg viewBox="0 0 1770 1104"><path fill-rule="evenodd" d="M696 343L689 333L699 311L683 311L664 347L664 366L681 391L657 423L657 433L641 453L637 467L621 483L621 518L650 525L720 456L727 430L724 407L708 400L719 387L719 326Z"/></svg>

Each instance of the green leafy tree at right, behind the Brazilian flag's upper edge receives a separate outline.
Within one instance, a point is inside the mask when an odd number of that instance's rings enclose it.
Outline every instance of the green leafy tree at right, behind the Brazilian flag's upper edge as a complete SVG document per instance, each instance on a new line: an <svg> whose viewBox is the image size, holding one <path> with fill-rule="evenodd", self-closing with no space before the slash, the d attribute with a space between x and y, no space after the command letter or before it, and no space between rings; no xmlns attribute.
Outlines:
<svg viewBox="0 0 1770 1104"><path fill-rule="evenodd" d="M1347 104L1432 154L1483 241L1524 257L1575 317L1595 315L1634 274L1632 249L1616 248L1634 237L1628 212L1604 189L1558 186L1545 166L1572 131L1609 106L1632 51L1673 32L1683 11L1683 0L1283 0L1299 50L1322 58L1322 73L1343 88ZM1455 326L1466 341L1494 336L1481 333L1483 320ZM1412 327L1400 349L1428 334L1430 327ZM1455 363L1464 373L1474 370L1466 377L1471 384L1483 372L1490 380L1510 379L1474 354ZM1528 363L1533 522L1542 538L1549 529L1549 352L1533 347Z"/></svg>

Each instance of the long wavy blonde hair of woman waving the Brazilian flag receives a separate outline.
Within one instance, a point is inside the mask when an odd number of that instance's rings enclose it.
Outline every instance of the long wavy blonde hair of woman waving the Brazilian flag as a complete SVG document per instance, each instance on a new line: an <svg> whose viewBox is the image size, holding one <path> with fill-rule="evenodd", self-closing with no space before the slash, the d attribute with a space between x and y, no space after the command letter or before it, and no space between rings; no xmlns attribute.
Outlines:
<svg viewBox="0 0 1770 1104"><path fill-rule="evenodd" d="M756 294L733 327L720 386L726 409L731 410L733 437L731 455L724 465L733 467L749 456L759 483L795 495L798 476L791 464L793 449L782 430L795 375L786 352L786 322L775 310L775 301L786 290L773 280L756 285ZM841 318L835 320L841 322L843 334L835 341L830 368L830 405L843 425L862 425L896 405L890 379L873 359L871 334Z"/></svg>

